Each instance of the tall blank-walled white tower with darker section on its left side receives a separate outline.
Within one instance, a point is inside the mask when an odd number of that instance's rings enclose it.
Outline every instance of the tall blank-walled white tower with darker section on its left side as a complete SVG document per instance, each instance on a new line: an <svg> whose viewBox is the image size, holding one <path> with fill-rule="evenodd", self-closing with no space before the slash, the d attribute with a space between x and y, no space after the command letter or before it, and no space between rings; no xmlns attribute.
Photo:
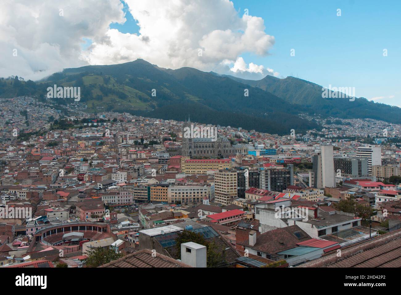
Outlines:
<svg viewBox="0 0 401 295"><path fill-rule="evenodd" d="M336 187L334 177L334 153L332 145L322 145L320 153L313 157L313 183L316 188Z"/></svg>

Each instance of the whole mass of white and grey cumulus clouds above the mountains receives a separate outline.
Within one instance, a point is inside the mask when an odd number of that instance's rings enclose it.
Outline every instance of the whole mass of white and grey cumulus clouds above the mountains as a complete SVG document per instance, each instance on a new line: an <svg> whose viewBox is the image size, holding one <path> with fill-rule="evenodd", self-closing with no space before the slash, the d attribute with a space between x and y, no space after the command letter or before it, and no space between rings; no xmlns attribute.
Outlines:
<svg viewBox="0 0 401 295"><path fill-rule="evenodd" d="M266 56L274 37L264 20L239 15L228 0L125 0L138 34L109 28L124 23L120 0L5 0L0 12L0 76L38 79L65 67L114 64L139 57L160 67L194 67L234 75L278 75L245 63ZM63 16L60 16L63 9ZM91 45L83 49L83 39ZM13 57L17 49L17 57Z"/></svg>

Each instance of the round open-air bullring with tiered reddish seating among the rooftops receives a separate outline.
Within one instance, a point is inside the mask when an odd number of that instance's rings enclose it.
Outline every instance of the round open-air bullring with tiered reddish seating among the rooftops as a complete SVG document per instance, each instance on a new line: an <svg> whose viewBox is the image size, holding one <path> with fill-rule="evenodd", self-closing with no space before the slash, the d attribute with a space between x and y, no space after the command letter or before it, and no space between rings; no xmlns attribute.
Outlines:
<svg viewBox="0 0 401 295"><path fill-rule="evenodd" d="M103 222L65 222L46 226L34 234L35 244L41 243L53 248L81 246L84 242L100 240L111 236L110 225Z"/></svg>

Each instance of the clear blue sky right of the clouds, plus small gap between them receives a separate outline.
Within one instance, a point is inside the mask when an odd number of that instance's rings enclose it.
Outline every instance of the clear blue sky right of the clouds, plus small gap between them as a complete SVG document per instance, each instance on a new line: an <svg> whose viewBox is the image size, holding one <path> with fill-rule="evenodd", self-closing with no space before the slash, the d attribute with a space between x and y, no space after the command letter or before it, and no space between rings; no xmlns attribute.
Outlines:
<svg viewBox="0 0 401 295"><path fill-rule="evenodd" d="M324 87L355 87L357 97L401 106L401 1L234 0L239 14L263 18L275 37L268 56L241 55L246 63L274 69ZM341 16L337 16L337 9ZM207 8L206 8L207 9ZM128 10L126 10L128 12ZM122 33L138 33L130 13ZM290 50L295 49L295 56ZM383 56L387 49L387 56Z"/></svg>

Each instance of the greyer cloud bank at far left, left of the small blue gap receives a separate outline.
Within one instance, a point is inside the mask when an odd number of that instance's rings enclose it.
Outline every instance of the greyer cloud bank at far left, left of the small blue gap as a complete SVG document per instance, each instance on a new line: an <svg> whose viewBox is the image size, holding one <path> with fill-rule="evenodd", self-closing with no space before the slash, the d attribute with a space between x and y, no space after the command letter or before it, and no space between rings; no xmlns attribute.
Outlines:
<svg viewBox="0 0 401 295"><path fill-rule="evenodd" d="M0 76L39 79L79 59L83 38L107 43L111 22L124 22L119 0L3 0ZM16 51L15 51L16 49Z"/></svg>

